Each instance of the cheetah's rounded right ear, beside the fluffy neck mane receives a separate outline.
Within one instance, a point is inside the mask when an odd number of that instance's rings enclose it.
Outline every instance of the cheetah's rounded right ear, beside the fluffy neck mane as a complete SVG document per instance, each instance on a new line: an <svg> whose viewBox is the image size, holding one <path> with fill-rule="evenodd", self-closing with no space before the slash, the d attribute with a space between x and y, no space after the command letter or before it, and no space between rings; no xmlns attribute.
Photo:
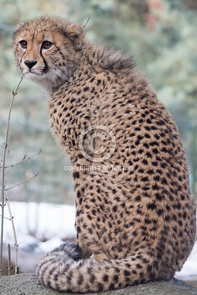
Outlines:
<svg viewBox="0 0 197 295"><path fill-rule="evenodd" d="M66 28L66 33L73 42L75 49L79 49L86 35L85 28L80 23L73 23Z"/></svg>

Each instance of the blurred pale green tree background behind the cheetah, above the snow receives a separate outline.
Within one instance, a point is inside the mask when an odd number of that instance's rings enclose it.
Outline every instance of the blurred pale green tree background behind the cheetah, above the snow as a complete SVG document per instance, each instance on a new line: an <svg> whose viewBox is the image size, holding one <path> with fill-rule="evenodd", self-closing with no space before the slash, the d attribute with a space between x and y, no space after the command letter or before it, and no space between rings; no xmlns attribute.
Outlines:
<svg viewBox="0 0 197 295"><path fill-rule="evenodd" d="M87 38L133 55L159 99L176 120L186 151L192 192L197 194L197 4L192 0L0 0L0 154L12 91L20 77L13 56L12 32L21 21L57 15L85 24ZM9 199L74 204L69 158L47 126L47 99L38 85L22 81L11 114L7 163L24 154L39 156L14 167L6 183ZM0 156L1 158L1 156Z"/></svg>

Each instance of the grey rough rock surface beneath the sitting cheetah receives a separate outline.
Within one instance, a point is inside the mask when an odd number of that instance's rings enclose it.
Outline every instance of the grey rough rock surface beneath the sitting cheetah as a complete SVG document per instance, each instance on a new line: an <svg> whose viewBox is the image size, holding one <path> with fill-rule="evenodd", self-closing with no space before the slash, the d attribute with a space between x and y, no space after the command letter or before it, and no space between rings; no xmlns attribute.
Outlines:
<svg viewBox="0 0 197 295"><path fill-rule="evenodd" d="M0 279L1 295L55 295L75 294L58 292L37 283L36 275L32 273L14 276L3 276ZM130 286L124 289L86 294L103 295L197 295L197 287L177 279L170 281L149 282L147 284Z"/></svg>

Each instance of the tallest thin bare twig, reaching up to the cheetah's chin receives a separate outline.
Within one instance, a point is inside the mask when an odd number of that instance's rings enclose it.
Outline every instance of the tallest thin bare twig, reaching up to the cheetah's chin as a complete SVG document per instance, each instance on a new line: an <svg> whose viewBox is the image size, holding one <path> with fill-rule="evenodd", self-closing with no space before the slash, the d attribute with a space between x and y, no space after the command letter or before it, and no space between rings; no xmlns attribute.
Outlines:
<svg viewBox="0 0 197 295"><path fill-rule="evenodd" d="M23 77L22 77L23 78ZM10 115L12 110L12 105L14 101L14 97L17 94L18 87L20 86L20 83L22 81L22 78L20 79L20 82L18 83L16 89L12 93L12 100L10 103L10 109L8 114L8 122L7 122L7 128L6 128L6 139L4 143L4 152L3 152L3 159L2 159L2 223L1 223L1 239L0 239L0 276L2 276L2 264L3 264L3 234L4 234L4 187L5 187L5 160L6 160L6 151L7 151L7 145L8 145L8 134L9 134L9 126L10 126Z"/></svg>

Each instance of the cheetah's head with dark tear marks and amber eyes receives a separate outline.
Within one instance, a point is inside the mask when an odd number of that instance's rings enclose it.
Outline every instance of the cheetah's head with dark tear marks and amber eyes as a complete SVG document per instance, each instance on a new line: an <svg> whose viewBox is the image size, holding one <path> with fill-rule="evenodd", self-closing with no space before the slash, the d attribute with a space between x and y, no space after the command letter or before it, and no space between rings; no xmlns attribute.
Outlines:
<svg viewBox="0 0 197 295"><path fill-rule="evenodd" d="M81 24L58 17L39 17L20 23L14 32L17 68L28 80L47 90L65 83L73 74L85 37Z"/></svg>

